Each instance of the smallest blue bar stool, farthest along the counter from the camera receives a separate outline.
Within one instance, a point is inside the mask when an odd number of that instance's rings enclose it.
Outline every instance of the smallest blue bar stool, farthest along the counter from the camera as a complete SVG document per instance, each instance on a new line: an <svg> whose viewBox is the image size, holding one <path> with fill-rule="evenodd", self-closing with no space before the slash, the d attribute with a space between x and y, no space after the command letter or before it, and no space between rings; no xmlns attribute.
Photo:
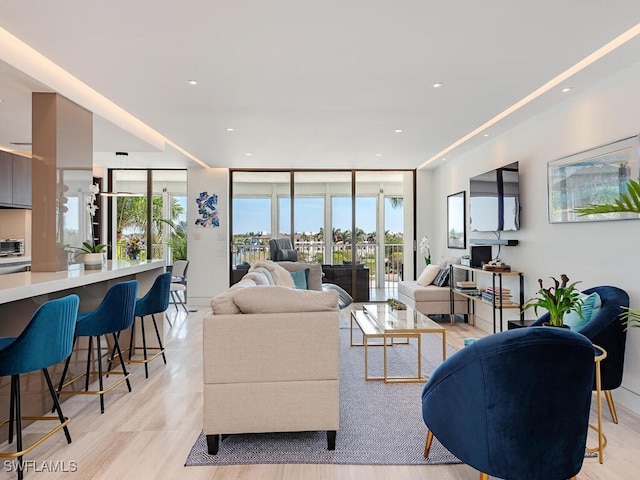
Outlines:
<svg viewBox="0 0 640 480"><path fill-rule="evenodd" d="M144 376L149 378L149 366L148 363L156 358L158 355L162 355L162 359L166 365L167 358L164 355L164 346L162 345L162 339L160 338L160 332L158 331L158 324L156 323L156 313L163 313L167 308L169 308L169 295L171 288L171 272L165 272L156 277L156 280L153 282L151 289L147 292L147 294L139 298L136 301L136 310L135 317L136 319L140 318L140 328L142 332L142 350L143 350L143 359L135 359L132 360L131 356L135 353L135 350L140 349L140 347L135 347L134 337L135 337L135 327L136 323L134 320L133 329L131 331L131 341L129 342L129 362L131 363L144 363ZM153 328L156 330L156 337L158 338L159 347L147 347L147 339L144 332L144 317L147 315L151 315L151 319L153 320ZM158 352L149 357L147 354L147 350L158 350Z"/></svg>

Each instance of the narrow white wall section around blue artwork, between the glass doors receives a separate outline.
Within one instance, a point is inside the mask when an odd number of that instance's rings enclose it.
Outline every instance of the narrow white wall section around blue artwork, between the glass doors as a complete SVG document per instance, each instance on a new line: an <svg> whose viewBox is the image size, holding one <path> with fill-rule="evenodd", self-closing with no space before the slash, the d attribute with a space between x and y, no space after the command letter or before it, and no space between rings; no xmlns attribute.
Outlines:
<svg viewBox="0 0 640 480"><path fill-rule="evenodd" d="M192 168L187 177L189 201L189 305L209 308L211 297L229 287L229 170ZM195 225L200 192L218 195L219 227Z"/></svg>

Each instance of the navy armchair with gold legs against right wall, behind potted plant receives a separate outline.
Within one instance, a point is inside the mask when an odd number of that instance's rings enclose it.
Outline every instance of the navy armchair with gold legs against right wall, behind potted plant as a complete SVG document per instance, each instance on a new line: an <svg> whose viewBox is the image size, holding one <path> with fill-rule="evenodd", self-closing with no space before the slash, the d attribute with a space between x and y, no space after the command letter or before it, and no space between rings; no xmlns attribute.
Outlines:
<svg viewBox="0 0 640 480"><path fill-rule="evenodd" d="M590 295L596 292L600 296L602 306L587 324L578 330L595 345L604 348L607 358L602 361L601 377L602 390L604 391L611 417L614 423L618 423L616 407L613 403L611 390L615 390L622 383L624 371L624 350L627 341L627 330L620 320L623 307L629 306L629 295L618 287L600 286L589 288L582 293ZM540 326L549 321L549 314L545 313L531 326ZM596 389L595 381L593 389Z"/></svg>

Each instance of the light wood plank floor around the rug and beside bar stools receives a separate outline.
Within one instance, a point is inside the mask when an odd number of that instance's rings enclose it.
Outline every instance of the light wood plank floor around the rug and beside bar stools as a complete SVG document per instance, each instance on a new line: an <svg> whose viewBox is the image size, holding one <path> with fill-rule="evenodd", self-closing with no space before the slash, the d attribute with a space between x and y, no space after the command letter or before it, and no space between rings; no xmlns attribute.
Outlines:
<svg viewBox="0 0 640 480"><path fill-rule="evenodd" d="M351 465L239 465L184 467L185 459L202 429L202 317L199 312L176 316L168 332L167 365L150 364L149 379L143 366L132 365L133 392L124 386L106 396L106 411L100 415L98 398L75 395L63 403L73 442L56 434L26 456L32 468L49 465L73 467L75 473L28 472L33 479L345 479L369 480L471 480L478 473L466 465L450 466L351 466ZM462 347L465 337L481 336L466 324L447 326L448 342ZM615 392L614 392L615 396ZM538 412L542 414L543 412ZM536 412L532 412L535 415ZM0 412L4 416L5 412ZM609 440L605 463L585 459L580 479L629 480L640 477L640 418L619 407L620 424L614 425L605 410L604 429ZM592 417L595 418L595 417ZM40 422L42 423L42 422ZM27 431L34 432L36 425ZM425 430L426 433L426 430ZM338 441L340 436L338 434ZM6 445L3 450L6 450ZM544 461L543 458L540 459ZM56 464L56 462L58 462ZM15 478L0 468L0 479Z"/></svg>

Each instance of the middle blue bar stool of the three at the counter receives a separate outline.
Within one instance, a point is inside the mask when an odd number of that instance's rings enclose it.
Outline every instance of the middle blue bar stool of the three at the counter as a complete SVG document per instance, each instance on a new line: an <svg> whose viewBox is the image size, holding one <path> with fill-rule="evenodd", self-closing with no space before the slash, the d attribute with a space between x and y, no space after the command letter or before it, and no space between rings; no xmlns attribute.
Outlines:
<svg viewBox="0 0 640 480"><path fill-rule="evenodd" d="M122 351L120 350L120 344L118 343L118 337L122 330L131 328L133 325L133 313L136 306L136 295L138 293L138 282L131 280L129 282L120 282L111 286L107 291L104 299L96 310L91 312L81 312L78 314L78 322L76 324L76 332L74 342L78 337L89 337L88 339L88 354L87 354L87 371L82 373L68 382L64 382L64 379L69 370L69 362L71 355L67 357L67 361L62 371L62 378L60 378L60 386L58 387L58 394L85 394L85 395L100 395L100 413L104 413L104 394L110 392L122 382L127 382L127 388L131 391L131 383L129 383L129 372L124 365L124 359L122 357ZM106 372L102 371L102 348L101 348L101 336L113 335L113 352L109 357L109 366ZM93 339L96 339L96 360L98 363L98 371L91 371L91 354L93 350ZM118 355L120 359L120 365L122 371L112 371L111 361L115 355ZM91 375L98 375L99 390L89 390L89 379ZM104 387L103 375L122 375L122 378L109 387ZM74 382L84 378L85 386L83 390L63 390L67 386Z"/></svg>

